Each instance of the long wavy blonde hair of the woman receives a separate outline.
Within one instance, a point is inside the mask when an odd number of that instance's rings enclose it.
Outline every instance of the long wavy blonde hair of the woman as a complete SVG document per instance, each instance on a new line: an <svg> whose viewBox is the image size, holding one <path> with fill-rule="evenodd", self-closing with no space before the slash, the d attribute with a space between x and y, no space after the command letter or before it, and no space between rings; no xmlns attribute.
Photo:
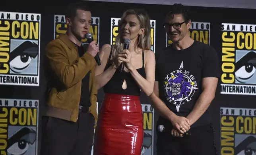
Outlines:
<svg viewBox="0 0 256 155"><path fill-rule="evenodd" d="M143 9L128 9L123 13L118 23L118 35L116 36L116 41L112 49L113 58L117 57L118 53L121 52L124 48L124 40L122 38L122 34L120 33L120 31L122 28L122 23L124 21L124 18L127 15L136 15L140 22L140 28L145 28L145 32L142 35L138 36L138 40L135 43L135 46L134 46L135 52L136 52L136 47L142 49L143 51L145 49L151 50L151 36L150 36L151 24L150 24L149 16Z"/></svg>

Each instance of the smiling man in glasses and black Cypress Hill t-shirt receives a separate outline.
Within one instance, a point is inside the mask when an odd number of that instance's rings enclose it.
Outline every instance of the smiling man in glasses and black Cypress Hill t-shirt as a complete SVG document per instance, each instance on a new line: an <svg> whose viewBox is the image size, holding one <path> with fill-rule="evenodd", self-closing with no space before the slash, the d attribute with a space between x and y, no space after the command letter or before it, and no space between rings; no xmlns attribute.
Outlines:
<svg viewBox="0 0 256 155"><path fill-rule="evenodd" d="M188 10L174 4L164 27L173 42L156 53L152 105L157 121L157 155L217 155L208 107L219 79L217 52L192 40ZM163 128L164 127L164 128Z"/></svg>

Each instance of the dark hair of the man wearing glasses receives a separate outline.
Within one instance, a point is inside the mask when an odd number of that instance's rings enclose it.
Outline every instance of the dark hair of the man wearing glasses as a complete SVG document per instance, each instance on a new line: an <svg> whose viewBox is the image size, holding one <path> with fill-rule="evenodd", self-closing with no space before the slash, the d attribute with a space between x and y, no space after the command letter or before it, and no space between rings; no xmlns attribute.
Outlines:
<svg viewBox="0 0 256 155"><path fill-rule="evenodd" d="M174 18L174 15L182 14L182 17L184 21L188 22L190 19L190 11L186 6L183 6L182 4L173 4L169 7L166 16L169 15L172 18Z"/></svg>

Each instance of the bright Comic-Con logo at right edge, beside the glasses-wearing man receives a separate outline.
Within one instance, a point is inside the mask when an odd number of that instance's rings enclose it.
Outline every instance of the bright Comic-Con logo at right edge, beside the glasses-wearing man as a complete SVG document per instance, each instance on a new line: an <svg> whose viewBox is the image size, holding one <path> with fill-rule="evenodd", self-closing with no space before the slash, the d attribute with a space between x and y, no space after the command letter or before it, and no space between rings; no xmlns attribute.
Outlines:
<svg viewBox="0 0 256 155"><path fill-rule="evenodd" d="M256 25L222 23L221 94L256 95Z"/></svg>

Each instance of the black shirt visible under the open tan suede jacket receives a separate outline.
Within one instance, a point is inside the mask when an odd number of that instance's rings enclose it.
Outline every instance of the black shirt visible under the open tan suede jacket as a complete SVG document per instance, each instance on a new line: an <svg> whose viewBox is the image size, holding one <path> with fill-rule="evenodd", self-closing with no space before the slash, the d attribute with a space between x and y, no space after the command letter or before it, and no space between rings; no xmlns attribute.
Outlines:
<svg viewBox="0 0 256 155"><path fill-rule="evenodd" d="M85 53L85 49L83 46L78 46L78 53L81 57ZM88 72L86 76L82 79L82 85L81 85L81 98L80 98L80 105L81 106L91 106L90 102L90 91L89 91L89 85L90 85L90 73Z"/></svg>

